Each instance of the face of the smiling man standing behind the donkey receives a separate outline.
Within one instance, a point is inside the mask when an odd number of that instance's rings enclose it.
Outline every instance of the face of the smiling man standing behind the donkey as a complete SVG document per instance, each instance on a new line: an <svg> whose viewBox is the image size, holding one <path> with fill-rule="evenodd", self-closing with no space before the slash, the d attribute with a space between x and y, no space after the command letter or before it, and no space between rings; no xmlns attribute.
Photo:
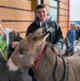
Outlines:
<svg viewBox="0 0 80 81"><path fill-rule="evenodd" d="M36 16L39 17L41 22L45 22L47 19L47 10L46 8L41 8L36 10Z"/></svg>

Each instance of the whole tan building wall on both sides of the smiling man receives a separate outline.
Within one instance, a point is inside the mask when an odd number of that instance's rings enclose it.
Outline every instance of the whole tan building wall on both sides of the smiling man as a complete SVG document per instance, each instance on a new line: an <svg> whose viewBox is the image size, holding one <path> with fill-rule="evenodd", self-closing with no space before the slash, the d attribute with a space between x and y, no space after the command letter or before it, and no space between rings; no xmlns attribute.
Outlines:
<svg viewBox="0 0 80 81"><path fill-rule="evenodd" d="M49 12L49 1L44 0ZM68 27L68 0L58 0L58 23L65 37ZM12 28L24 38L27 27L35 18L37 0L0 0L0 19L3 27Z"/></svg>

